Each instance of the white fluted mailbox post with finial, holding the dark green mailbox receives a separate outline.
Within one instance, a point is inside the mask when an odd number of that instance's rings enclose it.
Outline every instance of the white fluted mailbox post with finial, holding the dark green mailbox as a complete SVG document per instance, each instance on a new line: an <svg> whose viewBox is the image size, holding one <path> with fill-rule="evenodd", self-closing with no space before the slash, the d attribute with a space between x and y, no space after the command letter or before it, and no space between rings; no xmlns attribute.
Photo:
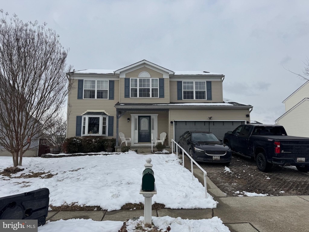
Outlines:
<svg viewBox="0 0 309 232"><path fill-rule="evenodd" d="M151 164L151 159L147 158L146 159L146 164L144 165L145 169L149 168L152 170L152 164ZM155 190L154 191L145 191L142 190L142 184L141 184L141 189L139 191L139 194L142 194L143 197L145 198L145 202L144 202L144 224L150 224L151 225L151 216L152 216L152 197L154 194L157 194L157 188L155 186Z"/></svg>

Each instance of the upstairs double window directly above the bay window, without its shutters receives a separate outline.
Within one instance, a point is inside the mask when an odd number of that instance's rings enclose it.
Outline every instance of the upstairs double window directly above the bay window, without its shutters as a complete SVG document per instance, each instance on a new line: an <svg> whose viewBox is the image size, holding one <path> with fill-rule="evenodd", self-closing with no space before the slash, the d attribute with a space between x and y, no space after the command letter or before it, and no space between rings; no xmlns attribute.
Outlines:
<svg viewBox="0 0 309 232"><path fill-rule="evenodd" d="M108 99L108 80L84 80L84 98Z"/></svg>

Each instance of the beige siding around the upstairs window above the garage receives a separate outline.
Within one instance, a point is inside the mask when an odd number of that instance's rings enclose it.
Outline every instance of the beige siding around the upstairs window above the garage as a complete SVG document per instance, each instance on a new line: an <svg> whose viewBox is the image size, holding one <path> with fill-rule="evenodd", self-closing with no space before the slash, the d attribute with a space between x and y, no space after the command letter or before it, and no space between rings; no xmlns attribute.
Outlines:
<svg viewBox="0 0 309 232"><path fill-rule="evenodd" d="M206 81L206 80L205 80ZM170 80L170 101L171 102L222 102L222 81L211 81L212 100L177 100L177 81Z"/></svg>

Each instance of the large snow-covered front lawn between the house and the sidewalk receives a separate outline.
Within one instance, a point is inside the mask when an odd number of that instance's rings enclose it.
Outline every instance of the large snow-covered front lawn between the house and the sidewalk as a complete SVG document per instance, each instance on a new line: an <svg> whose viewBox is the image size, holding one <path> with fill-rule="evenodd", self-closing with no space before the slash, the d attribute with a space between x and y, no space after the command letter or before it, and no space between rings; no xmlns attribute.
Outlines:
<svg viewBox="0 0 309 232"><path fill-rule="evenodd" d="M40 158L23 157L25 170L21 176L45 172L51 178L9 178L0 176L0 197L49 188L49 204L77 204L100 206L108 211L118 210L126 203L144 202L139 194L146 158L154 165L157 195L152 203L165 204L166 208L215 208L217 202L191 173L179 164L175 154L141 155L127 153ZM11 157L0 157L0 172L12 165ZM44 174L44 177L48 174Z"/></svg>

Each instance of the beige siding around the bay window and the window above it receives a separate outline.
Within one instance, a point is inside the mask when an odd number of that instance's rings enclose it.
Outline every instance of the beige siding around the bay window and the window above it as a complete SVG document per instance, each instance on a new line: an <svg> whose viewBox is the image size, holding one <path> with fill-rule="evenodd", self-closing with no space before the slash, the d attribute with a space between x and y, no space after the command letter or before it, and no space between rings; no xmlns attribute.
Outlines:
<svg viewBox="0 0 309 232"><path fill-rule="evenodd" d="M79 78L82 79L82 78ZM119 80L114 81L114 100L108 99L77 99L77 84L78 79L74 79L75 88L70 92L70 105L68 109L68 124L67 124L67 138L76 135L76 116L81 116L87 110L104 110L109 116L114 116L114 136L116 137L116 108L114 105L119 101L117 91L119 89Z"/></svg>

